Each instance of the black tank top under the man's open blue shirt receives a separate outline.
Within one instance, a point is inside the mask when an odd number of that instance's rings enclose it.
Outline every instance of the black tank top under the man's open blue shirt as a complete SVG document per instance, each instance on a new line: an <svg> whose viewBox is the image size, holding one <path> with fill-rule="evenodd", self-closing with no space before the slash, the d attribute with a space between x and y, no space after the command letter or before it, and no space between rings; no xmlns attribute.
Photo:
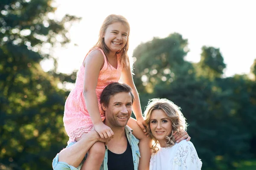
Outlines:
<svg viewBox="0 0 256 170"><path fill-rule="evenodd" d="M132 151L128 139L124 153L116 154L108 150L108 170L134 170Z"/></svg>

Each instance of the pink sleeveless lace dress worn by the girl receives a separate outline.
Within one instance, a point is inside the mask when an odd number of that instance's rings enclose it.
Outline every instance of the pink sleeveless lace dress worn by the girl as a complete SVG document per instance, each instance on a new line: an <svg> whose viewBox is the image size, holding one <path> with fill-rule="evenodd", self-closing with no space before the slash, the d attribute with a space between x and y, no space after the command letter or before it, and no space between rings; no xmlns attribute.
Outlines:
<svg viewBox="0 0 256 170"><path fill-rule="evenodd" d="M120 62L120 54L117 54L117 68L108 64L107 57L103 50L98 48L104 56L104 65L99 72L98 83L96 86L96 95L98 99L99 112L102 121L105 119L105 112L100 105L100 95L103 89L112 82L118 82L121 78L122 63ZM90 53L90 51L89 51ZM89 54L88 53L88 54ZM87 55L88 55L87 54ZM87 56L86 55L86 56ZM86 82L85 82L86 83ZM64 108L64 127L67 135L70 137L69 142L75 141L76 138L81 137L83 133L90 132L93 128L92 120L85 105L84 95L84 65L82 64L77 74L75 88L67 97Z"/></svg>

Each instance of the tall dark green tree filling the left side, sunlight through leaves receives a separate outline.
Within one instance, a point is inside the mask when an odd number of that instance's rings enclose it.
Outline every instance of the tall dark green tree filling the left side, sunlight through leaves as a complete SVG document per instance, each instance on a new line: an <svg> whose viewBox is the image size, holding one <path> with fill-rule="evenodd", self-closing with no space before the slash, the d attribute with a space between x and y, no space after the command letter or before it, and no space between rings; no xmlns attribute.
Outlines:
<svg viewBox="0 0 256 170"><path fill-rule="evenodd" d="M57 88L65 74L45 73L40 62L69 42L68 24L79 18L51 18L52 0L0 3L0 162L13 170L51 169L67 142L63 129L65 96ZM62 77L62 79L61 79Z"/></svg>

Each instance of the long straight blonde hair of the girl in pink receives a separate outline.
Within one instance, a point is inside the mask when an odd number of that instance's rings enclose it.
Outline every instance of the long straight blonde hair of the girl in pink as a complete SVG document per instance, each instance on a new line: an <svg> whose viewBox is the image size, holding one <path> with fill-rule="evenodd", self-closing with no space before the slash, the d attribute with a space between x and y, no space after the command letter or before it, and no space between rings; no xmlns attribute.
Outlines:
<svg viewBox="0 0 256 170"><path fill-rule="evenodd" d="M120 61L123 64L123 67L124 68L128 68L128 66L129 66L129 62L128 61L129 60L128 60L127 52L128 52L128 48L129 48L130 24L128 23L127 19L125 17L123 17L122 15L111 14L108 17L106 17L106 19L102 23L102 26L101 26L101 28L99 30L99 40L93 46L93 48L102 48L102 50L104 51L105 55L107 56L107 54L109 53L109 48L105 44L103 35L105 34L105 31L108 28L108 26L113 24L113 23L116 23L116 22L120 22L120 23L122 23L124 26L126 26L128 28L127 42L126 42L124 48L122 48L122 49L120 49L119 51L116 52L117 54L121 54ZM93 48L91 48L91 50Z"/></svg>

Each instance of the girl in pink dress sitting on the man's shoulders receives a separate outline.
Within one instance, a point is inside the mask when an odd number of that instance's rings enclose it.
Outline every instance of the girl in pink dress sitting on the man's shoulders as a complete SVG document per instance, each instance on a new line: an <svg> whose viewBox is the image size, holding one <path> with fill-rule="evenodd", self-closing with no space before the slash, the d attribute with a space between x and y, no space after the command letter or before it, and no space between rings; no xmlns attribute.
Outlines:
<svg viewBox="0 0 256 170"><path fill-rule="evenodd" d="M133 111L136 119L129 119L128 126L134 136L140 139L139 170L147 170L150 161L150 138L146 137L145 122L140 99L134 85L129 58L130 26L125 17L111 14L103 22L99 40L86 55L78 72L75 88L65 103L64 126L70 137L69 142L79 141L95 127L101 138L111 139L114 134L102 121L105 113L100 105L102 90L111 82L122 82L131 86L135 101ZM99 170L105 156L105 144L96 142L89 150L83 170Z"/></svg>

